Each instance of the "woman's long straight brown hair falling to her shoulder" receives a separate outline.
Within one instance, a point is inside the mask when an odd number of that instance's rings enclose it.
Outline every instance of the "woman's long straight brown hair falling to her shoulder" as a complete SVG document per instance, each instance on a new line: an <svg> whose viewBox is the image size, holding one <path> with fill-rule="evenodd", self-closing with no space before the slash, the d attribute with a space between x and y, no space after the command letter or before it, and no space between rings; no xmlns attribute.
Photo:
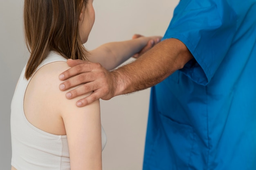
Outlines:
<svg viewBox="0 0 256 170"><path fill-rule="evenodd" d="M88 0L25 0L25 42L31 53L25 78L53 50L64 58L86 59L86 51L79 36L79 16Z"/></svg>

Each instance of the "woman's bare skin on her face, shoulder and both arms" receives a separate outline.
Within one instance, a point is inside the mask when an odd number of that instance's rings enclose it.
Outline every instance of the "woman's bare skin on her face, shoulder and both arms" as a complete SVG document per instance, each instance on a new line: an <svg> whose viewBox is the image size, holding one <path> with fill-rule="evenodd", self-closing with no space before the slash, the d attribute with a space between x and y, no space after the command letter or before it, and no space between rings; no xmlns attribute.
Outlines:
<svg viewBox="0 0 256 170"><path fill-rule="evenodd" d="M88 40L94 24L95 13L92 1L89 0L87 8L83 8L79 18L79 34L83 43ZM113 69L130 56L134 54L138 56L145 52L161 38L135 35L134 40L110 42L90 51L92 54L90 60L106 63L104 65L106 68ZM99 100L91 102L86 107L76 107L74 103L77 99L85 98L92 92L71 100L65 98L66 92L58 89L62 81L56 77L67 69L70 67L63 61L49 63L38 69L25 92L25 116L40 130L56 135L67 135L71 170L101 170ZM12 167L11 170L16 169Z"/></svg>

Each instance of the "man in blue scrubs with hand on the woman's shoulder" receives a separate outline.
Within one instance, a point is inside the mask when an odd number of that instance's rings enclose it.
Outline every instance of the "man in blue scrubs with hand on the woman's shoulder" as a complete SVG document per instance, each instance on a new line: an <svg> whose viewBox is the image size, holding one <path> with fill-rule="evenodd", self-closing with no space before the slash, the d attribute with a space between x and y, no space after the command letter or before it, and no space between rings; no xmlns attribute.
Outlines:
<svg viewBox="0 0 256 170"><path fill-rule="evenodd" d="M68 60L68 98L151 87L144 170L256 170L256 0L181 0L162 39L108 72ZM89 82L89 83L88 83Z"/></svg>

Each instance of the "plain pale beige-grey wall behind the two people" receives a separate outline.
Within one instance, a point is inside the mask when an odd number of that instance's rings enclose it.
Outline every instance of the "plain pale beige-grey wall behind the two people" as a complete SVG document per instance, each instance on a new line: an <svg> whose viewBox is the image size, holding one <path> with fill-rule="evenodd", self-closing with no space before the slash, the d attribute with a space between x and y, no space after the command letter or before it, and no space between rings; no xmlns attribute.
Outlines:
<svg viewBox="0 0 256 170"><path fill-rule="evenodd" d="M94 0L96 20L87 49L128 40L133 34L163 36L178 0ZM23 38L23 0L0 1L0 169L11 168L10 105L28 59ZM161 57L161 56L159 56ZM131 60L128 60L130 62ZM143 162L150 89L101 100L108 142L103 170L140 170Z"/></svg>

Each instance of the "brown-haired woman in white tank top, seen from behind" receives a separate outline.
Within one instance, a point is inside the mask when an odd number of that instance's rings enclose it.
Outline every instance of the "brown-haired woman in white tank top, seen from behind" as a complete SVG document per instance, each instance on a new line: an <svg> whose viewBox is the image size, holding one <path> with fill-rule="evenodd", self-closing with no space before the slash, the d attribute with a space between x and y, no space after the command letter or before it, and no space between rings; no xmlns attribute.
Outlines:
<svg viewBox="0 0 256 170"><path fill-rule="evenodd" d="M76 107L77 99L67 100L59 90L58 75L69 68L68 58L113 69L160 37L112 42L86 51L83 43L95 16L92 2L25 0L25 39L31 55L11 103L11 170L102 169L106 134L99 100Z"/></svg>

